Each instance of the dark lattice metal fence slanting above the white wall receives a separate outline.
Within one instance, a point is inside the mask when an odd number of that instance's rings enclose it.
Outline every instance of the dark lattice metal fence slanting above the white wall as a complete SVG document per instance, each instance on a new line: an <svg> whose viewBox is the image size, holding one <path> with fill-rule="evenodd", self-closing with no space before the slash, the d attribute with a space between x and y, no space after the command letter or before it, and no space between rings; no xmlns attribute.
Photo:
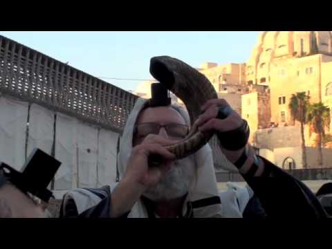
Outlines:
<svg viewBox="0 0 332 249"><path fill-rule="evenodd" d="M0 91L118 133L138 98L3 36Z"/></svg>

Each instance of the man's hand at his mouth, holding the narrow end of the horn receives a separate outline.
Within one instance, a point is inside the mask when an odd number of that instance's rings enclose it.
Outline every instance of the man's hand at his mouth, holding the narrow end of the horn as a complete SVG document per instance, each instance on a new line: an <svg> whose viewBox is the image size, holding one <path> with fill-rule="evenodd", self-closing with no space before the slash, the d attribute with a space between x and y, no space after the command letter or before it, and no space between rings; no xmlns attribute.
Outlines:
<svg viewBox="0 0 332 249"><path fill-rule="evenodd" d="M149 134L140 145L133 147L127 172L124 176L126 180L139 183L144 187L149 187L158 183L172 167L174 154L165 149L164 146L174 144L174 140L163 138L162 136ZM149 167L148 158L151 154L162 156L163 163L158 167Z"/></svg>

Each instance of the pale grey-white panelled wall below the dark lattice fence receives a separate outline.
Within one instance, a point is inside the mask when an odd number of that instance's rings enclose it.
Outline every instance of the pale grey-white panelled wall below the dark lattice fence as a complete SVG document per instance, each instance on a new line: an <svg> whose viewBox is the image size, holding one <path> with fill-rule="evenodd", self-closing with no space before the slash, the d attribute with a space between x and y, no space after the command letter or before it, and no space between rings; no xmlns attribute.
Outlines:
<svg viewBox="0 0 332 249"><path fill-rule="evenodd" d="M118 133L7 95L0 114L0 161L21 170L35 147L54 156L62 162L52 189L57 199L73 187L116 182Z"/></svg>

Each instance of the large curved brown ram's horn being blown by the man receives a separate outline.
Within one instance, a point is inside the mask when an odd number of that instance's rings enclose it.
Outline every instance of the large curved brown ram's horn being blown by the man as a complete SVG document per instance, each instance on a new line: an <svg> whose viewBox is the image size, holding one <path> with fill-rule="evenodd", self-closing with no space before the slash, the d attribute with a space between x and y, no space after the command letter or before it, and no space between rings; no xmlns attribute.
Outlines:
<svg viewBox="0 0 332 249"><path fill-rule="evenodd" d="M185 158L201 149L213 136L213 132L201 132L193 124L200 115L203 104L207 100L218 98L218 95L207 77L179 59L153 57L150 73L183 101L190 115L190 133L180 142L166 147L177 159Z"/></svg>

